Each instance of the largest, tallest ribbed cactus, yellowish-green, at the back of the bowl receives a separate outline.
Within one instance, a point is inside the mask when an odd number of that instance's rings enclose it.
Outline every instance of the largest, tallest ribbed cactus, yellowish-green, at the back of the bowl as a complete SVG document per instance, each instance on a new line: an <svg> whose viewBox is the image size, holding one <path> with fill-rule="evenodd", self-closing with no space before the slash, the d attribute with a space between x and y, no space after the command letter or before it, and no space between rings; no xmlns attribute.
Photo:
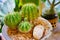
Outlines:
<svg viewBox="0 0 60 40"><path fill-rule="evenodd" d="M21 9L21 13L24 18L27 18L29 21L34 20L38 17L38 10L35 4L33 3L28 3L23 5Z"/></svg>

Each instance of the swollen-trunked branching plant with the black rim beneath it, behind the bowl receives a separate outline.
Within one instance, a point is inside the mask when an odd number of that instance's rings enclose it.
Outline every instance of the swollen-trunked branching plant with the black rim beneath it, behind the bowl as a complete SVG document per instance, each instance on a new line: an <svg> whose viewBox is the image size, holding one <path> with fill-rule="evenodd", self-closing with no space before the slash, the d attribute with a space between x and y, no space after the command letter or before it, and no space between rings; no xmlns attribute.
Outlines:
<svg viewBox="0 0 60 40"><path fill-rule="evenodd" d="M48 10L46 10L44 14L42 14L42 17L44 17L45 19L48 19L48 20L57 18L56 11L55 11L55 6L60 4L60 1L58 1L56 3L56 0L52 0L52 1L47 0L47 2L49 3L50 8Z"/></svg>

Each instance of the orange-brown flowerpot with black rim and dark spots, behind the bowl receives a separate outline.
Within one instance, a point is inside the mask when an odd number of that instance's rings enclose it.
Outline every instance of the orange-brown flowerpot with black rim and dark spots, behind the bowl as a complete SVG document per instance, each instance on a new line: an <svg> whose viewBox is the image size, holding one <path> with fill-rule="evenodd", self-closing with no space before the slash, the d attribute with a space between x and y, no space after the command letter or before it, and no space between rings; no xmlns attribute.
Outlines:
<svg viewBox="0 0 60 40"><path fill-rule="evenodd" d="M56 28L56 24L58 22L58 16L57 14L54 15L46 15L46 16L42 16L43 18L47 19L51 24L53 29Z"/></svg>

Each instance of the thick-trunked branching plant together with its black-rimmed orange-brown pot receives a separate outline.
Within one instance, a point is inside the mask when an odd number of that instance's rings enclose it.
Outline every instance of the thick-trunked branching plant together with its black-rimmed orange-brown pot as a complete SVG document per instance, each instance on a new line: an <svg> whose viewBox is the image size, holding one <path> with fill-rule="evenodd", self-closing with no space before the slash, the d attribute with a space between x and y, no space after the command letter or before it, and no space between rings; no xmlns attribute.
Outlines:
<svg viewBox="0 0 60 40"><path fill-rule="evenodd" d="M55 6L58 5L60 3L60 1L57 3L55 3L56 0L53 0L52 3L50 2L50 0L47 0L47 1L50 4L50 8L45 11L45 13L42 15L42 17L44 17L45 19L50 21L53 28L56 28L58 16L55 11Z"/></svg>

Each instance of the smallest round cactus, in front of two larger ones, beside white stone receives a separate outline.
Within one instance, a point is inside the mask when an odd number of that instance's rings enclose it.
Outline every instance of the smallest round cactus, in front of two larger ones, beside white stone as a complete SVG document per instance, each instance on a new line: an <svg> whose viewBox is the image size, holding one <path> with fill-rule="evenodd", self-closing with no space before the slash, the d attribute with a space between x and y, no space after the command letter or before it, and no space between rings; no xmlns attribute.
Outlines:
<svg viewBox="0 0 60 40"><path fill-rule="evenodd" d="M27 33L29 31L31 31L32 29L32 24L27 22L27 21L23 21L22 23L19 24L18 26L18 30L22 33Z"/></svg>

